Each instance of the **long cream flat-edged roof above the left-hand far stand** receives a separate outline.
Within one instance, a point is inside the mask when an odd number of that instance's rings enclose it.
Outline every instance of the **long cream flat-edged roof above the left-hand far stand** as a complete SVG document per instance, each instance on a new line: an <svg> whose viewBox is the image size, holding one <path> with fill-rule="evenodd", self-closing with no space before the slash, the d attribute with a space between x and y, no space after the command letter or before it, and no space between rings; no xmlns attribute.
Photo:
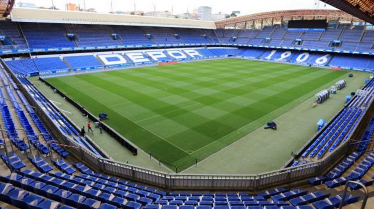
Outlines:
<svg viewBox="0 0 374 209"><path fill-rule="evenodd" d="M191 19L160 18L138 15L118 15L93 12L75 12L50 9L13 8L15 22L45 22L64 24L137 25L178 28L215 29L214 22Z"/></svg>

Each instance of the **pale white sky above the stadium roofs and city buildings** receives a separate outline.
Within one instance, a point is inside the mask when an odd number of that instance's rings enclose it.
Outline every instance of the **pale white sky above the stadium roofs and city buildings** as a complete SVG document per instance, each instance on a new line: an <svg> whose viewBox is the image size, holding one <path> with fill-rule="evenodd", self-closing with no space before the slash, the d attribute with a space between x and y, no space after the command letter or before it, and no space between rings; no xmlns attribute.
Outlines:
<svg viewBox="0 0 374 209"><path fill-rule="evenodd" d="M111 2L113 2L113 11L133 11L135 3L136 10L144 12L153 11L155 5L156 11L171 11L173 7L174 14L187 12L187 8L189 12L192 12L199 6L210 6L212 13L231 13L238 10L241 15L248 15L286 9L313 9L316 0L239 0L235 3L227 0L16 0L16 3L18 1L36 3L38 7L50 7L53 1L53 4L59 9L64 9L66 3L80 4L80 7L83 8L85 1L87 9L95 8L96 11L104 13L111 11ZM332 6L325 6L323 2L320 2L319 5L320 9L334 9Z"/></svg>

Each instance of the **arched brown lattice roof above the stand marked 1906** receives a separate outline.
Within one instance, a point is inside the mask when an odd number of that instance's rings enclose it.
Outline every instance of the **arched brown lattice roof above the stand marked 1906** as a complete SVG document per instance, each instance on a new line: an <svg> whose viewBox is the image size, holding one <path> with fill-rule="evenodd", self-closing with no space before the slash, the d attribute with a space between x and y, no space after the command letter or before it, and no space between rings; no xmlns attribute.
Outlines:
<svg viewBox="0 0 374 209"><path fill-rule="evenodd" d="M261 12L251 15L243 15L235 18L216 21L217 28L223 28L225 25L234 25L249 21L272 22L292 19L340 19L344 21L361 21L346 12L333 9L300 9L300 10L281 10L272 12Z"/></svg>

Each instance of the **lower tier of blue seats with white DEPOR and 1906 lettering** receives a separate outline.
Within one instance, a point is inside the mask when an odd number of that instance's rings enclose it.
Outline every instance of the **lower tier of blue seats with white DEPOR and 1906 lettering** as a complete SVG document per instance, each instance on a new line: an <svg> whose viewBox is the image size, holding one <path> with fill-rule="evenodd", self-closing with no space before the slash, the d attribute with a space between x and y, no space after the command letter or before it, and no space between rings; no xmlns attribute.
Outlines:
<svg viewBox="0 0 374 209"><path fill-rule="evenodd" d="M261 40L261 39L252 39L250 40ZM274 39L270 44L281 44L283 40ZM286 40L284 40L286 41ZM291 40L288 40L291 42ZM311 42L314 41L304 41L301 46L305 46L306 44L313 44ZM317 44L326 44L328 42L315 42ZM347 44L350 42L345 42ZM357 43L351 42L355 44ZM362 43L364 44L364 43ZM265 44L269 45L269 44ZM292 44L290 44L292 45ZM344 45L343 45L344 46ZM321 47L322 48L322 47ZM326 47L327 48L327 47ZM183 49L176 49L181 50ZM195 50L195 49L193 49ZM297 64L306 64L306 65L316 65L316 66L325 66L325 67L338 67L338 68L345 68L345 69L352 69L352 70L374 70L374 61L367 55L347 55L347 54L327 54L323 52L300 52L297 50L284 50L284 49L263 49L263 48L246 48L246 49L238 49L238 48L230 48L230 47L208 47L208 48L196 48L198 52L202 52L202 55L205 55L205 58L212 58L217 56L238 56L242 58L252 58L252 59L266 59L266 60L273 60L273 61L281 61L281 62L290 62L290 63L297 63ZM151 52L152 50L149 50ZM272 53L275 51L274 53ZM165 62L165 61L175 61L175 60L183 60L183 59L191 59L189 55L186 55L186 58L173 58L172 56L168 55L167 50L160 50L160 53L163 53L165 57L158 58L157 60L153 60L151 57L148 56L147 50L146 53L141 52L144 58L148 57L148 61L144 62L143 64L150 64L152 62ZM242 53L240 53L242 52ZM181 52L182 54L185 54ZM284 54L285 53L285 54ZM133 61L131 58L128 57L127 52L120 55L127 61L128 64L135 65L139 64L138 62ZM282 57L283 56L283 57ZM192 57L192 59L200 58L200 57ZM61 60L62 59L62 60ZM118 58L113 58L118 59ZM112 60L111 60L112 61ZM114 61L114 60L113 60ZM89 55L84 53L82 55L61 55L60 56L48 56L43 57L39 56L39 58L34 59L7 59L7 65L12 69L13 72L21 75L37 75L37 74L46 74L50 73L51 71L58 71L61 70L62 72L67 72L69 70L82 70L82 69L94 69L94 68L104 68L108 67L98 58L96 55ZM52 63L52 65L51 65Z"/></svg>

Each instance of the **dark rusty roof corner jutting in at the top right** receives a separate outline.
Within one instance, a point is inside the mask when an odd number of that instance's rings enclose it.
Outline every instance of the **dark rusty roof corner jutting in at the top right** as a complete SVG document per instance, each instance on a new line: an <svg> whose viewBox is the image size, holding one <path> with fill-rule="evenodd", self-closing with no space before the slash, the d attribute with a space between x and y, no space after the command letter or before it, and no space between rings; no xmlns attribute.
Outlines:
<svg viewBox="0 0 374 209"><path fill-rule="evenodd" d="M374 24L374 0L321 0L344 12Z"/></svg>

